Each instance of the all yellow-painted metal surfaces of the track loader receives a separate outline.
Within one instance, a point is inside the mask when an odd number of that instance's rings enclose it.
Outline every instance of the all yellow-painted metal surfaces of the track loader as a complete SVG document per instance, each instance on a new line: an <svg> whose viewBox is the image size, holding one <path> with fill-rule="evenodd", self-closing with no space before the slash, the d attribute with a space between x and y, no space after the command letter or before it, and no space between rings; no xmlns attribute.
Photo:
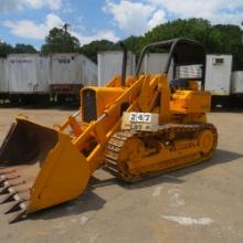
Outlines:
<svg viewBox="0 0 243 243"><path fill-rule="evenodd" d="M210 93L199 91L197 82L189 83L187 91L177 91L175 94L170 93L166 74L129 76L125 87L120 83L120 77L116 76L106 87L82 89L82 103L85 89L95 92L97 120L87 124L80 122L77 116L71 116L53 128L57 142L41 161L40 172L31 188L28 212L68 201L85 190L92 173L104 162L107 140L120 129L124 104L127 104L126 112L158 113L161 125L205 122L205 113L210 110ZM78 117L83 117L84 112L83 106ZM67 128L71 134L65 133ZM175 134L168 136L170 140L175 138ZM181 166L200 159L200 151L207 152L212 139L210 133L201 134L199 140L186 138L176 141L175 150L162 144L147 149L139 139L131 140L120 158L127 158L127 152L131 151L128 167L134 175L158 171L168 169L170 160L186 158L181 160ZM172 168L178 167L177 163L171 165Z"/></svg>

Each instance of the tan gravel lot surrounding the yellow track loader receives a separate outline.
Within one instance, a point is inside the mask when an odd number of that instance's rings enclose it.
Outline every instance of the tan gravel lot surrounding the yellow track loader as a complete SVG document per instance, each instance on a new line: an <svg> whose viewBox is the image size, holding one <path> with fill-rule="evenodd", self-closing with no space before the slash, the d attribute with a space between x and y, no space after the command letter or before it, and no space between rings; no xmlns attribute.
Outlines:
<svg viewBox="0 0 243 243"><path fill-rule="evenodd" d="M72 110L1 108L1 141L17 113L53 125ZM243 114L212 113L209 120L219 129L210 161L136 184L97 170L72 202L11 225L2 214L0 242L243 242Z"/></svg>

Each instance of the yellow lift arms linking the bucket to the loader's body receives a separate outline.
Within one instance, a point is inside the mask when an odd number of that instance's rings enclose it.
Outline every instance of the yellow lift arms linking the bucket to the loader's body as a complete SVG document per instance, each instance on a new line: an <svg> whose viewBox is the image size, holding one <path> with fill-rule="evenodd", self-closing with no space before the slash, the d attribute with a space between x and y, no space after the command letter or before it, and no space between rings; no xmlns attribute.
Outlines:
<svg viewBox="0 0 243 243"><path fill-rule="evenodd" d="M114 101L107 108L104 110L104 113L97 118L97 120L93 120L92 123L87 124L85 126L85 129L78 135L75 136L72 139L72 144L80 150L83 151L83 149L86 147L86 141L91 138L95 138L96 146L92 149L92 151L87 155L86 161L89 165L89 172L91 175L103 163L103 151L105 148L105 145L107 140L110 138L110 136L117 130L117 128L120 126L122 122L122 114L119 114L119 117L115 120L115 123L112 124L110 127L107 127L107 123L109 122L110 117L114 115L114 113L117 112L118 107L120 107L124 103L129 103L129 106L127 107L127 110L133 110L135 106L138 103L138 94L141 91L142 84L147 80L147 76L142 75L140 76L130 87L124 87L124 93ZM131 102L130 99L134 98ZM123 110L126 112L126 110ZM77 122L75 122L75 116L77 116L80 113L74 114L74 116L71 116L61 127L60 130L65 130L68 126L72 128L80 127ZM74 133L77 129L74 129Z"/></svg>

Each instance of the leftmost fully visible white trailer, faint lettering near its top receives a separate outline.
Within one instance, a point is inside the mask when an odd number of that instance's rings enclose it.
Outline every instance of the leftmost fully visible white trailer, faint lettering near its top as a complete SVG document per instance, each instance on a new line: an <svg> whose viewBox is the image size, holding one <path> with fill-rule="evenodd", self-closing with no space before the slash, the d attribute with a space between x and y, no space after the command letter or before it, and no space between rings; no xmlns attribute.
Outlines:
<svg viewBox="0 0 243 243"><path fill-rule="evenodd" d="M49 57L39 54L9 54L8 93L11 101L33 103L49 95Z"/></svg>

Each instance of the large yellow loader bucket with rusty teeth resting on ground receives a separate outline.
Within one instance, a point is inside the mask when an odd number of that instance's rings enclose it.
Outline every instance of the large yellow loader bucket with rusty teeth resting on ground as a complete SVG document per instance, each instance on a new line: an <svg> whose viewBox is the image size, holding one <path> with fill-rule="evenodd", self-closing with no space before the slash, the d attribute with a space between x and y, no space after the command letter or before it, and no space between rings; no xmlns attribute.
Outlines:
<svg viewBox="0 0 243 243"><path fill-rule="evenodd" d="M23 118L12 125L0 149L0 200L11 202L10 223L78 197L88 179L70 136Z"/></svg>

